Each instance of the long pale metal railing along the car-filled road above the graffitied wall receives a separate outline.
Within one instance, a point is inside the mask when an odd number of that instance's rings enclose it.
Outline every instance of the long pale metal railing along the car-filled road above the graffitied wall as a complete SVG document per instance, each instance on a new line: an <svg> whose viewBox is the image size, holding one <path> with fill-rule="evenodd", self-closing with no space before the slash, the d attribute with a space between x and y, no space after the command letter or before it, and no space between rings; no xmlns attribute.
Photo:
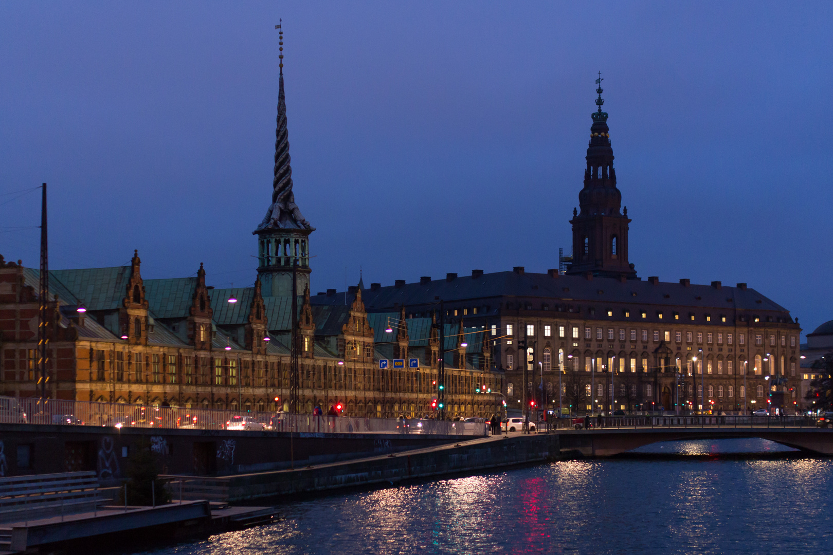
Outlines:
<svg viewBox="0 0 833 555"><path fill-rule="evenodd" d="M297 433L485 436L487 424L247 412L32 397L0 397L2 424L61 424L152 429L272 430Z"/></svg>

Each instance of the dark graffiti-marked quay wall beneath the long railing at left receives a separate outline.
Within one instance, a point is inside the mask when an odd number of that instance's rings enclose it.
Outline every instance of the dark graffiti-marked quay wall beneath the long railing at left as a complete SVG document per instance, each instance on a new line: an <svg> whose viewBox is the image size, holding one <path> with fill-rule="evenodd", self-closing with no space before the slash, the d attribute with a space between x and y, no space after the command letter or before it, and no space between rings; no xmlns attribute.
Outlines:
<svg viewBox="0 0 833 555"><path fill-rule="evenodd" d="M0 477L95 470L120 483L127 460L148 444L160 473L223 476L331 463L456 443L471 436L330 434L0 424Z"/></svg>

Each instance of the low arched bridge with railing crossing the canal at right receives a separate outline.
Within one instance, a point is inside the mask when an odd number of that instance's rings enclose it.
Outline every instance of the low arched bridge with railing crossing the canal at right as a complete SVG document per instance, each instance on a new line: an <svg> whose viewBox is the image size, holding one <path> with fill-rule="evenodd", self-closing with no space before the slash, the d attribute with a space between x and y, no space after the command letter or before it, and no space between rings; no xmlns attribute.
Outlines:
<svg viewBox="0 0 833 555"><path fill-rule="evenodd" d="M596 426L596 418L591 418ZM768 439L811 453L833 455L833 429L811 417L637 416L607 417L592 429L558 429L561 452L611 457L644 445L691 439Z"/></svg>

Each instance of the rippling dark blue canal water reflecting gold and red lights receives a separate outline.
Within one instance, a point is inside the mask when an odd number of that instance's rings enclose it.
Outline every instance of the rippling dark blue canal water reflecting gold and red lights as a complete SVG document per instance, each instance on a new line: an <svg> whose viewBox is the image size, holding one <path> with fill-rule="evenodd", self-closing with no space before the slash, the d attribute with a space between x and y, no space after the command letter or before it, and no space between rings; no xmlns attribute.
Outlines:
<svg viewBox="0 0 833 555"><path fill-rule="evenodd" d="M148 553L829 553L833 459L790 451L762 439L655 444L312 498L282 503L270 526Z"/></svg>

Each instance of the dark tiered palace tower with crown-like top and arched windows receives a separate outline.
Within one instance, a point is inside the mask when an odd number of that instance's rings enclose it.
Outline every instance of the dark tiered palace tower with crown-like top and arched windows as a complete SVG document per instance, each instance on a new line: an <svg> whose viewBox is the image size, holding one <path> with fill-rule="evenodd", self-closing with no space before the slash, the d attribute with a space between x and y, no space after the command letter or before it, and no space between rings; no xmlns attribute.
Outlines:
<svg viewBox="0 0 833 555"><path fill-rule="evenodd" d="M616 188L616 171L613 169L613 148L607 127L607 112L601 111L605 103L601 98L601 72L596 79L598 87L593 125L590 128L590 144L587 146L587 167L584 171L584 188L578 194L581 211L573 209L573 255L568 275L586 274L606 277L635 278L636 270L628 263L627 231L631 221L627 206L621 208L621 192Z"/></svg>

